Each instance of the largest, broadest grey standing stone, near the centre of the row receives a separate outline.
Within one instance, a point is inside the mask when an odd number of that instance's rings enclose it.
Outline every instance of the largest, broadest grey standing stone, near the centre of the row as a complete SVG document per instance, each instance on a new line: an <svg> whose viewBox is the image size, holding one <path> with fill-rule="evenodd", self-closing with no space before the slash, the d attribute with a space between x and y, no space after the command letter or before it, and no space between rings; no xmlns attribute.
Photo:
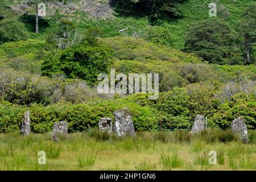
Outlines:
<svg viewBox="0 0 256 182"><path fill-rule="evenodd" d="M131 113L127 107L115 111L115 123L114 131L119 137L125 137L130 135L135 137L133 120L131 119Z"/></svg>

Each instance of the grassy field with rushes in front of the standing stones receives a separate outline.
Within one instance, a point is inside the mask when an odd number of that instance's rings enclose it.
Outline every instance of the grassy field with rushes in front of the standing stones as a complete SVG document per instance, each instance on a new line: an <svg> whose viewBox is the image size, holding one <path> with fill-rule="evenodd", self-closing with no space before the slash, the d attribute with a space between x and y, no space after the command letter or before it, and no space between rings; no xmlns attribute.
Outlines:
<svg viewBox="0 0 256 182"><path fill-rule="evenodd" d="M0 170L255 170L256 131L243 144L230 131L140 132L117 138L97 130L52 142L49 134L0 134ZM46 165L38 152L46 152ZM209 164L216 151L217 164Z"/></svg>

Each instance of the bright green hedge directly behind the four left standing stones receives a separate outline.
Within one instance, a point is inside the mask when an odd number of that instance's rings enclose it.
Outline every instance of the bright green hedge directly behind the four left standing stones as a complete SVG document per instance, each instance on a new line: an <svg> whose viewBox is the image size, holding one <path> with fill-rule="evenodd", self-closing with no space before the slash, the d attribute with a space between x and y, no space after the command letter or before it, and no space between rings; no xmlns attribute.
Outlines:
<svg viewBox="0 0 256 182"><path fill-rule="evenodd" d="M69 131L84 131L89 127L97 127L102 117L110 117L114 120L114 111L127 106L131 112L134 127L138 131L156 130L157 117L155 110L148 106L140 106L135 102L125 100L103 101L97 104L66 105L57 104L43 106L33 104L30 107L0 105L0 132L19 130L23 113L30 110L31 130L35 133L51 131L53 124L59 121L67 121Z"/></svg>

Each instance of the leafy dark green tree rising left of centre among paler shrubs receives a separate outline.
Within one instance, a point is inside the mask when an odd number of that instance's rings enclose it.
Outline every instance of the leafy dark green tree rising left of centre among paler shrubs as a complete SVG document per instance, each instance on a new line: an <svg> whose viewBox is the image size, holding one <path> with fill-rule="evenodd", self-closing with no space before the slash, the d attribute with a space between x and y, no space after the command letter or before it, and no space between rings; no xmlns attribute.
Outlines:
<svg viewBox="0 0 256 182"><path fill-rule="evenodd" d="M100 73L108 73L112 51L104 46L79 46L65 49L60 58L49 56L44 61L42 73L46 76L64 74L68 78L81 78L93 84Z"/></svg>

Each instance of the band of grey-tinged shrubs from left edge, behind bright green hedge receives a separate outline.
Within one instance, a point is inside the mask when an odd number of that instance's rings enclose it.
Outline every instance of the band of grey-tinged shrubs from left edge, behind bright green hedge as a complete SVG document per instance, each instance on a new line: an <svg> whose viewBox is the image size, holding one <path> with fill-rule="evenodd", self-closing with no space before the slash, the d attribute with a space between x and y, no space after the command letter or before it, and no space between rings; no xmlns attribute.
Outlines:
<svg viewBox="0 0 256 182"><path fill-rule="evenodd" d="M89 88L85 81L65 79L61 75L48 78L14 69L0 69L0 78L0 99L13 104L48 105L60 101L80 104L100 99L96 90Z"/></svg>

